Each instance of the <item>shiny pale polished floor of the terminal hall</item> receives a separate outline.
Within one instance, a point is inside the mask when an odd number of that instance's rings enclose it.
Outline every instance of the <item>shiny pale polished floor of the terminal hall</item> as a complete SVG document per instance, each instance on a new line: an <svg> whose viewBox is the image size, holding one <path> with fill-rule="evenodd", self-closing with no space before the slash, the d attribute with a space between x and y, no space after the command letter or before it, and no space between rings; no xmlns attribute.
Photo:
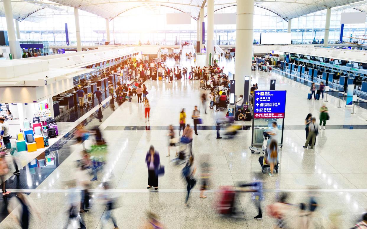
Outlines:
<svg viewBox="0 0 367 229"><path fill-rule="evenodd" d="M185 53L185 51L183 51ZM183 57L185 58L185 57ZM167 65L190 67L193 60L183 59L180 63L168 61ZM221 61L225 70L234 67L233 61ZM17 189L29 194L34 201L40 218L32 215L30 228L63 228L68 217L68 199L75 173L75 153L69 146L75 141L75 125L86 121L87 128L99 125L108 142L109 159L105 169L98 174L98 180L92 182L92 207L82 216L87 228L101 228L105 205L99 201L103 181L110 177L108 194L118 200L113 214L119 228L142 228L148 210L156 213L164 228L272 228L273 218L266 213L266 206L273 203L280 192L288 192L291 203L287 222L289 228L297 228L298 203L308 202L310 196L316 196L320 204L312 217L310 228L347 229L353 226L367 207L367 147L366 135L367 110L356 108L337 108L338 98L330 96L326 102L330 113L326 129L320 130L314 150L304 149L304 119L308 113L318 117L322 100L307 100L309 87L303 83L279 75L276 72L253 72L252 83L258 83L259 90L268 89L270 79L276 79L277 90L287 90L286 119L284 120L284 140L280 152L280 170L274 177L261 172L259 154L251 154L251 122L238 123L243 126L233 139L216 139L215 120L225 116L225 112L207 110L201 114L203 125L199 135L194 136L192 151L195 155L198 172L198 184L194 188L189 204L184 207L186 184L182 179L183 165L175 165L174 153L167 155L167 128L174 125L177 129L179 112L186 109L188 116L193 106L199 105L198 81L147 81L148 98L151 103L150 121L145 122L144 106L124 102L119 106L116 101L106 98L101 109L94 108L82 114L76 122L66 122L65 133L47 152L39 155L19 155L21 174L8 174L8 189ZM187 123L192 124L190 118ZM178 134L178 131L175 131ZM224 134L224 131L222 131ZM159 179L159 191L146 189L148 173L145 154L153 144L160 152L161 164L166 173ZM33 159L54 157L54 165L43 168L33 167ZM9 164L11 165L11 157ZM199 198L201 162L210 162L210 190L206 199ZM12 167L10 173L12 172ZM239 194L236 198L239 217L224 218L213 208L218 202L218 189L225 185L237 186L250 181L263 181L262 201L263 218L255 220L257 210L251 194ZM19 191L19 190L18 190ZM20 228L15 219L6 214L6 200L1 203L3 217L0 228ZM41 226L40 226L41 225ZM108 222L103 228L113 228Z"/></svg>

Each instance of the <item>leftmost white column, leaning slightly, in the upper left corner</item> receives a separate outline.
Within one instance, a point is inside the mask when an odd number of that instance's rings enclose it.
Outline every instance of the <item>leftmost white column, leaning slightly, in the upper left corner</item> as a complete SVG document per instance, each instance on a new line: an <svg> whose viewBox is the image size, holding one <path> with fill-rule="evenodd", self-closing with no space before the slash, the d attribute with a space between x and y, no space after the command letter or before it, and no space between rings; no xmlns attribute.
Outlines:
<svg viewBox="0 0 367 229"><path fill-rule="evenodd" d="M14 18L13 18L13 11L11 8L11 1L3 0L3 5L5 11L6 26L8 30L8 41L10 52L13 59L19 59L22 58L21 47L19 45L19 41L17 41L17 38L15 37Z"/></svg>

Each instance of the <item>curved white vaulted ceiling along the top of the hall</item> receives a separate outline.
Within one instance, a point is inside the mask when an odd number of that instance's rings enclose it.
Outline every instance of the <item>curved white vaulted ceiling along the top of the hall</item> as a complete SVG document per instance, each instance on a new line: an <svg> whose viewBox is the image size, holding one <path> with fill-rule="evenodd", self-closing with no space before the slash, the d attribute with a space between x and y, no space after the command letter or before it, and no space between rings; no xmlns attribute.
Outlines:
<svg viewBox="0 0 367 229"><path fill-rule="evenodd" d="M239 0L237 0L239 1ZM367 6L360 6L364 0L255 0L255 6L264 8L280 16L284 20L297 18L312 12L324 10L329 7L350 5L350 8L366 11ZM352 6L353 3L358 7ZM80 10L107 18L109 20L129 10L141 6L168 7L179 12L189 12L193 19L197 19L200 8L206 0L13 0L13 15L15 19L24 20L30 15L44 8L53 8L59 5L79 8ZM235 0L215 0L214 10L218 11L227 7L234 7ZM363 4L362 4L363 5ZM0 16L4 16L3 5L0 2ZM205 7L206 10L206 7Z"/></svg>

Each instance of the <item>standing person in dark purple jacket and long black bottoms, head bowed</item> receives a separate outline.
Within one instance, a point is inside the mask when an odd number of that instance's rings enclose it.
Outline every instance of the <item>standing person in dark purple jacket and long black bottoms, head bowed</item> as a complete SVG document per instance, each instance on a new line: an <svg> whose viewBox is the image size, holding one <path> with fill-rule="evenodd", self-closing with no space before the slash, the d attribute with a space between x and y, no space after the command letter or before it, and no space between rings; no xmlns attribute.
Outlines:
<svg viewBox="0 0 367 229"><path fill-rule="evenodd" d="M154 186L155 190L158 190L158 174L157 170L160 165L159 152L154 149L154 146L149 147L149 151L146 152L145 163L148 167L148 189Z"/></svg>

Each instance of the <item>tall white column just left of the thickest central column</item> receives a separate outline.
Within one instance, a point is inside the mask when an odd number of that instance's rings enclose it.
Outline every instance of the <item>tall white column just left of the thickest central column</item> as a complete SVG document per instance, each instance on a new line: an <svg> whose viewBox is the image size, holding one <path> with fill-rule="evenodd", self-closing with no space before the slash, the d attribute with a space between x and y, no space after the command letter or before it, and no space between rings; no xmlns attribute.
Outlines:
<svg viewBox="0 0 367 229"><path fill-rule="evenodd" d="M214 57L214 0L208 0L208 31L207 31L207 44L206 44L206 65L212 65L210 62L210 56ZM252 37L252 36L251 36Z"/></svg>

